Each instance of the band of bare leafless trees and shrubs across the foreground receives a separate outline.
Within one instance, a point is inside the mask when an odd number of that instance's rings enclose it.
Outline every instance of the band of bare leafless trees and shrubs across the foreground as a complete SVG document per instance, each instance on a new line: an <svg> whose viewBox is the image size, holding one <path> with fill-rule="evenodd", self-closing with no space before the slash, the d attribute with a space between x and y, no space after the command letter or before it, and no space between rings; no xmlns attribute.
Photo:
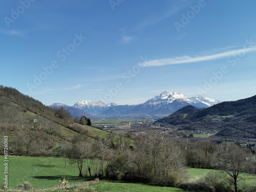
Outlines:
<svg viewBox="0 0 256 192"><path fill-rule="evenodd" d="M237 143L173 140L155 131L144 137L110 134L94 141L78 134L70 145L63 143L60 152L78 165L81 177L90 175L201 191L255 190L248 186L245 189L241 182L243 173L256 173L255 151ZM215 168L219 172L191 181L186 167Z"/></svg>

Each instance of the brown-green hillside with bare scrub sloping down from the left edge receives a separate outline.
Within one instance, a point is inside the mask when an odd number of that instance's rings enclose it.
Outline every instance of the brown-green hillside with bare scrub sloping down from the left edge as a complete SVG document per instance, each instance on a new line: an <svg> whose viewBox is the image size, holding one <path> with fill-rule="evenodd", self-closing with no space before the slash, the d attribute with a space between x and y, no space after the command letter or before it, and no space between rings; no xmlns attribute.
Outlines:
<svg viewBox="0 0 256 192"><path fill-rule="evenodd" d="M9 137L9 153L13 155L52 156L75 134L93 140L109 134L86 125L90 119L84 116L80 120L72 119L63 108L49 108L14 88L0 86L0 135Z"/></svg>

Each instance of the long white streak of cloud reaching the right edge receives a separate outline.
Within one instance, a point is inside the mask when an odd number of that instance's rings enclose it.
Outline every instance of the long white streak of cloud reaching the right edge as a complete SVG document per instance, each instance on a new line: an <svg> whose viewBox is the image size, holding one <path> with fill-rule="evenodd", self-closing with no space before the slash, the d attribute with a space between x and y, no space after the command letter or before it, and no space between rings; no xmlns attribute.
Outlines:
<svg viewBox="0 0 256 192"><path fill-rule="evenodd" d="M238 53L248 53L256 51L256 46L247 48L247 49L238 49L238 50L230 50L223 53L207 55L207 56L194 56L190 57L187 55L180 57L172 57L172 58L162 58L162 59L154 59L150 61L144 61L140 63L142 67L152 67L152 66L166 66L166 65L175 65L181 63L190 63L190 62L199 62L206 60L215 60L223 57L228 57L232 55L237 55Z"/></svg>

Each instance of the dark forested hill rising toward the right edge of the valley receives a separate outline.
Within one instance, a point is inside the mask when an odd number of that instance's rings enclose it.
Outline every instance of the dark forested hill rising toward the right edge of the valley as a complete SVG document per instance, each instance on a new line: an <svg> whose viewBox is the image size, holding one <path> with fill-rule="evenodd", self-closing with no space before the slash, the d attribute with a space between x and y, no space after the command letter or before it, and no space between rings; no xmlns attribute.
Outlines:
<svg viewBox="0 0 256 192"><path fill-rule="evenodd" d="M207 109L187 105L155 124L177 130L215 130L216 136L256 138L256 95L218 103Z"/></svg>

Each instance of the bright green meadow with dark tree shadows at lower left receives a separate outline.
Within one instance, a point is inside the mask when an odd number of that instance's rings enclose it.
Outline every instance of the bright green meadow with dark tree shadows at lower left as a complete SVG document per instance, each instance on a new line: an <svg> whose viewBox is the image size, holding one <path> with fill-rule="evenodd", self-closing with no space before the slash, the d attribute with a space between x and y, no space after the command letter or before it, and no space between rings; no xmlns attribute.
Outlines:
<svg viewBox="0 0 256 192"><path fill-rule="evenodd" d="M1 159L4 162L4 157ZM92 179L78 177L77 164L71 165L69 160L67 160L67 168L64 168L65 159L63 158L9 157L8 159L8 186L12 188L25 181L29 181L34 187L50 187L59 185L59 179L62 180L64 177L69 183ZM86 166L87 164L84 164L84 170ZM1 171L1 176L4 178L4 171Z"/></svg>

